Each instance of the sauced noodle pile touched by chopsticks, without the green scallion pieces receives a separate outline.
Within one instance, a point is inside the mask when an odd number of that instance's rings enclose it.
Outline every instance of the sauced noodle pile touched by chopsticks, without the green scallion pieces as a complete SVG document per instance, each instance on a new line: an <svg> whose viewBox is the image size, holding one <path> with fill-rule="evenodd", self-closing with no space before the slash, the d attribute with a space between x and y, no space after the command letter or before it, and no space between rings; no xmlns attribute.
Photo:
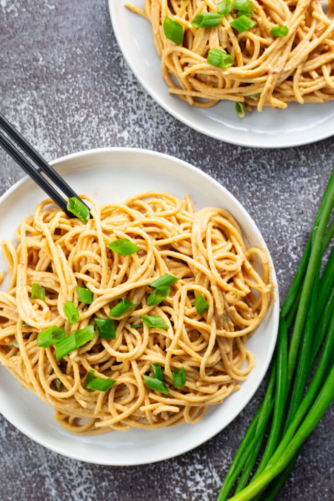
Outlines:
<svg viewBox="0 0 334 501"><path fill-rule="evenodd" d="M247 249L226 210L195 212L188 196L180 201L147 192L102 207L83 198L94 207L87 224L46 200L21 223L17 247L2 241L10 285L0 292L0 360L72 432L193 423L237 390L253 367L245 345L270 301L266 253ZM116 238L130 239L138 252L119 256L107 247ZM149 284L167 273L181 280L160 305L147 306ZM45 301L31 299L36 283L46 289ZM76 286L94 293L91 305L78 302ZM208 303L202 316L193 306L198 294ZM69 335L96 317L108 319L123 298L139 305L115 319L116 340L101 339L96 330L92 341L58 362L55 346L38 347L39 332L59 326ZM66 301L80 313L76 325L64 314ZM132 327L141 324L140 315L160 316L168 330ZM144 374L153 376L152 363L162 367L170 396L144 383ZM181 367L186 384L177 389L172 371ZM90 391L90 370L116 383Z"/></svg>

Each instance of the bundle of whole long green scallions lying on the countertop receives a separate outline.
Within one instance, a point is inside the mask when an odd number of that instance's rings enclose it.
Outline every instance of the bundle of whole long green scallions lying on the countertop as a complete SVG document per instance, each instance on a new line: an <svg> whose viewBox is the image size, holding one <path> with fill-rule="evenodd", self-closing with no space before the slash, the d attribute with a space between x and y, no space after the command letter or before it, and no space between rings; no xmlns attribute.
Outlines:
<svg viewBox="0 0 334 501"><path fill-rule="evenodd" d="M322 263L334 232L334 219L329 222L333 205L334 170L281 308L265 396L217 501L275 499L302 443L334 398L334 246ZM258 466L251 478L255 463ZM234 495L229 497L235 482Z"/></svg>

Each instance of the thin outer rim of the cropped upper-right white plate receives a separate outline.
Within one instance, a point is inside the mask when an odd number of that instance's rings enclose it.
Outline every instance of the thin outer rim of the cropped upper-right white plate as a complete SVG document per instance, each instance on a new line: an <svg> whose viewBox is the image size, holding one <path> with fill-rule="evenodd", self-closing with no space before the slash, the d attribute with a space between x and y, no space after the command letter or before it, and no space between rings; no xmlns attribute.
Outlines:
<svg viewBox="0 0 334 501"><path fill-rule="evenodd" d="M154 90L154 88L152 88L149 84L149 81L146 81L144 80L136 71L135 69L135 66L133 64L133 60L128 56L128 53L126 51L126 48L125 48L125 44L123 44L123 38L121 37L121 27L118 28L118 23L116 23L116 19L115 19L115 16L113 16L113 13L116 12L116 8L114 8L114 5L113 4L113 1L114 0L108 0L108 10L109 10L109 16L110 16L110 20L111 20L111 24L112 24L112 28L113 28L113 31L114 31L114 34L115 34L115 37L116 37L116 40L117 40L117 43L118 43L118 46L121 50L121 53L126 61L126 63L128 64L128 66L130 67L132 73L135 75L135 77L137 78L137 80L139 81L139 83L142 85L142 87L146 90L146 92L154 99L154 101L156 101L165 111L167 111L167 113L169 113L170 115L172 115L174 118L176 118L177 120L179 120L181 123L187 125L188 127L190 127L191 129L197 131L197 132L200 132L201 134L204 134L205 136L207 137L212 137L213 139L217 139L218 141L222 141L222 142L226 142L226 143L229 143L229 144L234 144L236 146L244 146L244 147L248 147L248 148L261 148L261 149L277 149L277 148L292 148L292 147L297 147L297 146L304 146L304 145L307 145L307 144L312 144L312 143L315 143L317 141L321 141L321 140L324 140L324 139L328 139L329 137L331 137L332 135L334 135L332 132L330 132L330 127L327 127L326 129L323 129L323 132L322 134L319 134L317 133L317 131L319 130L319 128L312 128L312 135L310 138L308 139L303 139L302 137L303 136L300 136L300 139L298 141L288 141L288 139L290 137L293 137L293 134L288 134L286 135L286 141L281 144L281 143L278 143L278 144L274 144L274 143L269 143L269 144L263 144L262 145L260 143L258 144L254 144L254 132L252 132L252 134L250 135L250 138L249 140L235 140L234 138L231 138L231 137L224 137L222 138L220 134L215 134L215 133L210 133L210 132L207 132L204 128L201 128L199 125L197 124L193 124L191 122L190 119L184 117L181 113L178 113L177 110L174 110L174 109L171 109L168 104L165 104L164 102L164 99L163 97L160 97L160 94L159 92L156 92ZM124 9L126 9L125 6L123 6ZM114 21L113 21L114 19ZM152 44L153 44L153 39L152 39ZM324 103L319 103L319 104L324 104ZM334 126L334 119L333 119L333 126ZM229 130L230 128L225 126L227 130ZM258 134L258 137L260 137L261 134ZM279 135L278 134L268 134L268 136L272 136L272 137L275 137L275 138L278 138Z"/></svg>

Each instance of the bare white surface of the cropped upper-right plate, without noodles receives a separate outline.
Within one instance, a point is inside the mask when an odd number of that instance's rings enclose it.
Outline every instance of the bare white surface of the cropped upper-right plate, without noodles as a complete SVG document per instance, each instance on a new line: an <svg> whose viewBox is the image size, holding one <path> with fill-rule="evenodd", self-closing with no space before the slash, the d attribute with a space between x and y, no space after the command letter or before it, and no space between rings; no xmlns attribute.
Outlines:
<svg viewBox="0 0 334 501"><path fill-rule="evenodd" d="M265 108L237 116L234 103L220 102L196 108L169 94L161 75L160 58L150 23L124 7L126 0L109 0L114 32L133 73L160 106L189 127L208 136L260 148L281 148L312 143L334 134L334 101L323 104L291 103L286 110ZM142 7L144 0L131 0Z"/></svg>

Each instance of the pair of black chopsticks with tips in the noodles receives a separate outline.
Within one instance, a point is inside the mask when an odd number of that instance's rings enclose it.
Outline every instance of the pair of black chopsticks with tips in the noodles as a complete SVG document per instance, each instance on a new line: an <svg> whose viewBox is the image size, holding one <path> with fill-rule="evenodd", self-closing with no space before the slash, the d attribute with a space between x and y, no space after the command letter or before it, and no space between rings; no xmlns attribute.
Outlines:
<svg viewBox="0 0 334 501"><path fill-rule="evenodd" d="M56 172L48 162L36 151L31 144L20 134L16 128L8 122L8 120L0 113L0 129L3 129L6 134L29 156L36 167L27 160L19 149L12 144L9 139L0 130L0 145L7 151L9 155L20 165L20 167L57 203L57 205L66 212L67 215L73 217L73 214L67 210L66 200L56 191L56 189L42 176L39 171L44 172L55 185L69 198L76 197L84 205L87 204L77 195L77 193L67 184L67 182Z"/></svg>

